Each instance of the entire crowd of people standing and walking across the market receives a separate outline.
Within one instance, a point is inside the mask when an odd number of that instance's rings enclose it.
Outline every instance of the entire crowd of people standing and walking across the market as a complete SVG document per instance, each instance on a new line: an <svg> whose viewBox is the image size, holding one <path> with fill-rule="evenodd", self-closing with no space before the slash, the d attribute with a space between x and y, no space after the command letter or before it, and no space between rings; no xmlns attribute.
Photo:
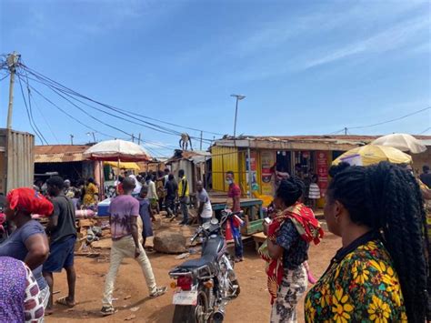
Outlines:
<svg viewBox="0 0 431 323"><path fill-rule="evenodd" d="M277 181L269 219L263 222L266 243L259 249L266 261L271 322L296 322L296 306L308 283L316 284L306 294L306 322L425 322L430 318L429 167L416 178L409 166L341 163L330 169L330 176L324 215L327 229L341 237L342 247L317 282L309 271L308 249L312 242L320 242L323 229L304 203L306 185L289 175ZM1 320L42 321L52 312L53 273L62 269L68 290L55 303L68 308L76 304L73 199L91 206L97 187L94 180L73 187L61 177L51 177L45 184L46 197L39 192L42 187L17 188L5 197L5 219L13 232L0 244ZM233 172L226 173L226 184L227 205L237 212L241 189ZM81 199L78 195L83 188ZM109 206L112 247L102 315L116 312L115 278L125 257L134 258L142 268L151 298L165 294L166 288L156 284L145 254L145 239L153 235L151 222L163 206L167 217L173 218L179 207L180 224L188 224L189 192L183 170L177 181L168 169L145 179L119 178L117 196ZM197 215L205 223L214 214L202 182L196 184L196 199ZM32 218L35 214L48 217L46 227ZM242 261L240 224L232 222L231 229L236 261Z"/></svg>

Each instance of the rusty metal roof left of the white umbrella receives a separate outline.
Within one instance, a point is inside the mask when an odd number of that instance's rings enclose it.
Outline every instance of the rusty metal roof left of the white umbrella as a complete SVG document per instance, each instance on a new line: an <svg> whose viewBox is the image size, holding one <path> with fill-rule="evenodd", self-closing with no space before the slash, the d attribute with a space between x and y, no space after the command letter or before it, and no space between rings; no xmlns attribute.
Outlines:
<svg viewBox="0 0 431 323"><path fill-rule="evenodd" d="M84 152L91 145L35 146L35 163L68 163L86 160Z"/></svg>

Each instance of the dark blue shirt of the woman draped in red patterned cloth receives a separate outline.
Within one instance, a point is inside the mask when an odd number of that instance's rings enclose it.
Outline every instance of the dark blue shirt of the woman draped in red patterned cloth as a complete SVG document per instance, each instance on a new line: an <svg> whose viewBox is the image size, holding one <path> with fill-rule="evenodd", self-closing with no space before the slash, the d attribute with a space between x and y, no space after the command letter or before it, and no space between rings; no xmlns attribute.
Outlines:
<svg viewBox="0 0 431 323"><path fill-rule="evenodd" d="M308 259L310 244L299 235L290 219L287 219L278 230L276 245L284 248L283 267L285 269L296 269Z"/></svg>

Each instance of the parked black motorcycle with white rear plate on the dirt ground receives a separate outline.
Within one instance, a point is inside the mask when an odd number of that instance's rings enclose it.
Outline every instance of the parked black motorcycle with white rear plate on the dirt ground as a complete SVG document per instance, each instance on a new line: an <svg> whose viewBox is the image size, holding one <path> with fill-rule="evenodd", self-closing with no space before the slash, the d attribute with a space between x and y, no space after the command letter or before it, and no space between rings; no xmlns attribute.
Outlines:
<svg viewBox="0 0 431 323"><path fill-rule="evenodd" d="M227 220L240 213L224 210L220 222L213 218L198 227L191 241L202 237L201 257L185 261L169 272L176 280L171 284L175 288L173 322L223 322L227 303L240 293L224 231Z"/></svg>

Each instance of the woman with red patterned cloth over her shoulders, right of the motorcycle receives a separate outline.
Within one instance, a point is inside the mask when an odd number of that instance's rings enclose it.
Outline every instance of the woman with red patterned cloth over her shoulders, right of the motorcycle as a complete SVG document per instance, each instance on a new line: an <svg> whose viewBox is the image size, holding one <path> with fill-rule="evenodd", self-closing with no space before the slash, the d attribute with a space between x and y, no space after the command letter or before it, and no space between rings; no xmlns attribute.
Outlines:
<svg viewBox="0 0 431 323"><path fill-rule="evenodd" d="M306 292L308 247L311 241L318 243L323 237L313 211L299 202L304 191L305 185L299 178L283 179L274 199L280 212L271 224L264 221L267 239L259 252L268 263L266 274L274 323L296 322L296 305Z"/></svg>

